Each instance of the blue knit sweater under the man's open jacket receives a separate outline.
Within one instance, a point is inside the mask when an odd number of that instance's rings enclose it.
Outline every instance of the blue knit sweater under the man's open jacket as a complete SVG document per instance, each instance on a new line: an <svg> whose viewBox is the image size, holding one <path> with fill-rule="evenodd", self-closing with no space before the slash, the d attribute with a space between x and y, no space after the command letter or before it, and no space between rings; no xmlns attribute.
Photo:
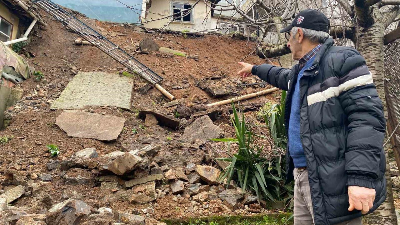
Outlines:
<svg viewBox="0 0 400 225"><path fill-rule="evenodd" d="M294 91L292 96L292 108L290 110L289 119L289 153L293 159L294 167L306 167L306 156L301 143L300 134L300 78L303 76L304 70L310 68L315 56L312 57L306 65L300 70L297 77L297 82L294 84Z"/></svg>

